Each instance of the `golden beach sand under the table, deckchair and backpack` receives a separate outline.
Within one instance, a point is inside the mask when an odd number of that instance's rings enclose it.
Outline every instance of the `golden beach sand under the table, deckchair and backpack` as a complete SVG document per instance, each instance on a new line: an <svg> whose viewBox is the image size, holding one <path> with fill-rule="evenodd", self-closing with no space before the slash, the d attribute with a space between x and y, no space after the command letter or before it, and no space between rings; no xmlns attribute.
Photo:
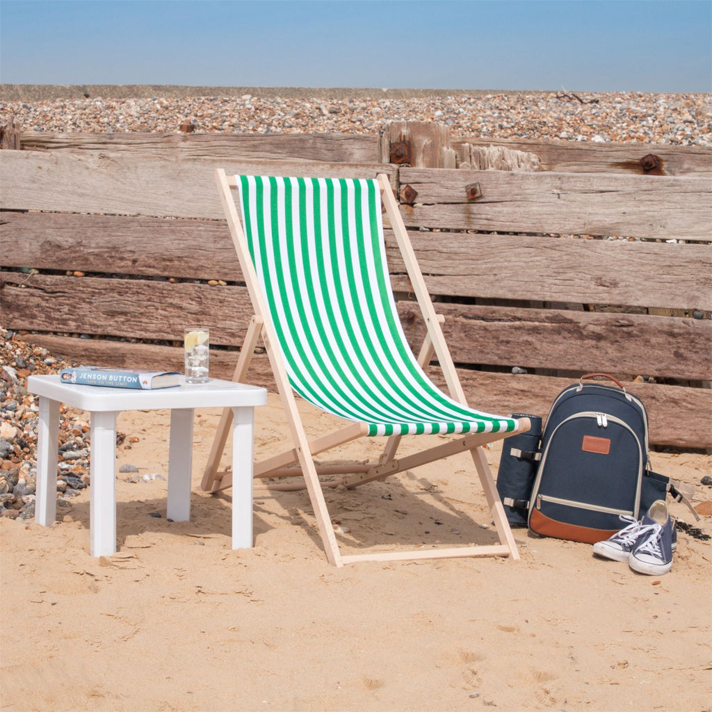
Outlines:
<svg viewBox="0 0 712 712"><path fill-rule="evenodd" d="M255 546L233 551L231 491L199 491L218 417L197 412L190 522L165 518L164 411L120 415L138 441L118 464L157 477L117 473L115 555L89 555L88 490L50 528L0 519L3 711L710 708L709 541L680 532L662 577L523 529L519 561L337 568L305 493L256 491ZM257 451L278 451L282 428L271 395ZM500 451L487 451L495 468ZM652 464L695 486L696 504L712 499L699 484L710 456L654 453ZM465 455L327 498L347 551L493 538ZM684 505L671 512L694 523ZM696 525L712 532L710 516Z"/></svg>

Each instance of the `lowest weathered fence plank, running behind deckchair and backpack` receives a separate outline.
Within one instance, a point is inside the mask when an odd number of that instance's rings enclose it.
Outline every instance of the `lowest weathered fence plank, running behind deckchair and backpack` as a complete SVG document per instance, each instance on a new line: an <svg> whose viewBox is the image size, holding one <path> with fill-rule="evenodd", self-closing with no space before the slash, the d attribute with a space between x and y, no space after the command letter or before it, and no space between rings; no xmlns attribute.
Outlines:
<svg viewBox="0 0 712 712"><path fill-rule="evenodd" d="M54 355L77 363L182 370L182 350L169 346L77 339L54 335L27 334L23 340L48 348ZM211 352L211 374L231 378L236 352ZM435 382L444 384L437 368L430 370ZM255 355L248 382L274 390L266 355ZM458 370L468 401L491 413L533 413L546 417L553 399L570 379L510 375ZM712 392L706 389L626 383L629 392L641 398L649 414L650 442L684 448L709 448L712 438Z"/></svg>

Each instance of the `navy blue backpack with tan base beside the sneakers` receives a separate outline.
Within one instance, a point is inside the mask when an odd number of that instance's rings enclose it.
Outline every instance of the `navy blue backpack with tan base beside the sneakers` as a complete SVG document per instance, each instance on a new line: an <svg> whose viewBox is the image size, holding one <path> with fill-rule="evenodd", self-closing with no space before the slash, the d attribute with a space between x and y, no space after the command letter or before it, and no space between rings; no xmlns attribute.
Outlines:
<svg viewBox="0 0 712 712"><path fill-rule="evenodd" d="M588 380L594 377L614 384ZM560 392L538 451L531 443L526 451L507 449L514 437L504 441L498 489L511 523L523 523L526 513L536 534L593 544L622 528L619 515L639 519L669 491L684 500L669 477L649 470L644 405L607 374L582 376ZM523 459L530 480L525 486L519 476L512 490Z"/></svg>

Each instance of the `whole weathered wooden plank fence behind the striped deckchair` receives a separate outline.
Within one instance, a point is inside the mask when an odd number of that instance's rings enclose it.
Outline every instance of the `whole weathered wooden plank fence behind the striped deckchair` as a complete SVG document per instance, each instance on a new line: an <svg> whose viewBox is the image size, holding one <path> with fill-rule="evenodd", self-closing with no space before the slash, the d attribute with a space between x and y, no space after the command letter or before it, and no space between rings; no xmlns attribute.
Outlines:
<svg viewBox="0 0 712 712"><path fill-rule="evenodd" d="M708 149L484 145L419 122L381 136L21 132L19 146L0 155L1 322L56 355L179 370L197 321L230 377L251 310L214 168L385 172L473 405L545 415L573 377L604 371L643 399L652 443L712 446ZM488 156L513 170L473 169ZM266 357L253 364L269 387Z"/></svg>

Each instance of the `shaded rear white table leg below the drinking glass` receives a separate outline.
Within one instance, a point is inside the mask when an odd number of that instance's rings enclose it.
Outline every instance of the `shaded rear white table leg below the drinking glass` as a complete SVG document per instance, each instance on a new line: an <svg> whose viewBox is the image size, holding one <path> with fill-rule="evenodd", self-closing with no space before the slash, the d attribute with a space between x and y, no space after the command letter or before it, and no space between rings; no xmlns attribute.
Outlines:
<svg viewBox="0 0 712 712"><path fill-rule="evenodd" d="M172 409L166 516L174 522L187 522L190 519L192 462L193 409Z"/></svg>

